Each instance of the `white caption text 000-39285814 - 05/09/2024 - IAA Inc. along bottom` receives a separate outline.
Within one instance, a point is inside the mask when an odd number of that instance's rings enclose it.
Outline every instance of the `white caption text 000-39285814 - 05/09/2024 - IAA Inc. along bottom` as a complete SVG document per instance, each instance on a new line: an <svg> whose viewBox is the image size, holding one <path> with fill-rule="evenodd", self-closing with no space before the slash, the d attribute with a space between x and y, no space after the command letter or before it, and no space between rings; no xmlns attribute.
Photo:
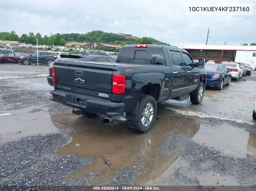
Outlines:
<svg viewBox="0 0 256 191"><path fill-rule="evenodd" d="M102 191L107 191L107 190L160 190L159 187L157 186L94 186L93 190L102 190Z"/></svg>

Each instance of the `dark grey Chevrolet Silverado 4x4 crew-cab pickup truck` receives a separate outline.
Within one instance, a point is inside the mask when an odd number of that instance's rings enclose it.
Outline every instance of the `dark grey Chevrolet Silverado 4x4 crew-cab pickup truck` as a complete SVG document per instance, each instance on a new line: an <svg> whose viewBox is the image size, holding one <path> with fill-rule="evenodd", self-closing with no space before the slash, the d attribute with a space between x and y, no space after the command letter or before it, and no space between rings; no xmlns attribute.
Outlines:
<svg viewBox="0 0 256 191"><path fill-rule="evenodd" d="M169 99L201 103L206 85L204 59L195 64L184 49L162 45L126 45L116 62L68 61L52 67L53 101L74 115L105 115L103 123L126 113L129 127L148 132L157 103Z"/></svg>

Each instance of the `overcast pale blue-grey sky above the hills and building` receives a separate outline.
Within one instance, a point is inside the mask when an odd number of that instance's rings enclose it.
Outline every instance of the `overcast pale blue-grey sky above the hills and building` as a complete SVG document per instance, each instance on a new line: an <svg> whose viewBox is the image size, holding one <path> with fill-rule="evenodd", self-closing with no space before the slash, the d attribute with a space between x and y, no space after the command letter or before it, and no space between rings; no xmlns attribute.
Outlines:
<svg viewBox="0 0 256 191"><path fill-rule="evenodd" d="M255 16L186 16L186 2L209 0L12 0L0 1L0 31L14 30L19 36L29 32L87 33L102 30L152 37L182 47L186 44L240 45L256 43ZM220 0L252 3L253 0ZM255 15L254 3L254 15ZM3 15L6 15L3 17ZM213 41L214 42L213 42Z"/></svg>

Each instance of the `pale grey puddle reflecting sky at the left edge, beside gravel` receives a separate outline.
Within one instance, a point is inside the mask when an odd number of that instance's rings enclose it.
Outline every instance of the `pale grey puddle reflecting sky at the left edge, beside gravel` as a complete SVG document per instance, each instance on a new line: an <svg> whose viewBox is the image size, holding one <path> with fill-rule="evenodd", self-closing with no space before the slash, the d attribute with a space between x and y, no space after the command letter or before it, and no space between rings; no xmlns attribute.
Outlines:
<svg viewBox="0 0 256 191"><path fill-rule="evenodd" d="M15 140L21 137L56 132L45 107L30 107L8 112L1 111L0 140ZM5 115L6 114L6 115ZM8 114L8 115L7 115Z"/></svg>

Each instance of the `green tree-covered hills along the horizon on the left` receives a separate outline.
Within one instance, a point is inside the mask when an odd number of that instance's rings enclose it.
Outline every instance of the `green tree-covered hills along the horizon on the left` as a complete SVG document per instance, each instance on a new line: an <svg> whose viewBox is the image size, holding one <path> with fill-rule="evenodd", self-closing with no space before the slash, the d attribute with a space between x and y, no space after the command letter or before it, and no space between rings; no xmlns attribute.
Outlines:
<svg viewBox="0 0 256 191"><path fill-rule="evenodd" d="M15 31L0 32L0 40L12 40L24 42L26 44L36 44L36 38L38 39L39 45L58 45L63 46L67 42L78 42L78 43L89 43L99 42L107 43L112 45L123 46L127 44L159 44L169 45L168 43L161 42L151 37L133 37L133 36L120 36L115 33L105 33L101 30L91 31L85 34L79 33L65 33L65 34L53 34L52 36L45 35L42 37L40 33L29 32L28 34L22 34L20 37Z"/></svg>

